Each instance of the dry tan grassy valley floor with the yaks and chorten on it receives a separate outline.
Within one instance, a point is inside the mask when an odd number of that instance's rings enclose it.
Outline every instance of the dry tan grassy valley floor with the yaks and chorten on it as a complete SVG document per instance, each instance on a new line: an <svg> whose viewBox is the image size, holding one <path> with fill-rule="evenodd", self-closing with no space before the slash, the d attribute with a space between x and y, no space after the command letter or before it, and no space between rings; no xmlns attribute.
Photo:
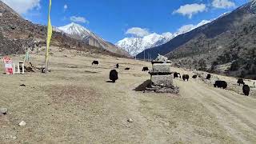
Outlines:
<svg viewBox="0 0 256 144"><path fill-rule="evenodd" d="M43 55L31 62L40 66ZM118 81L106 82L116 63ZM8 108L0 115L0 143L256 143L254 96L199 79L175 79L179 95L138 92L150 79L142 66L151 64L56 52L49 74L0 74L0 107Z"/></svg>

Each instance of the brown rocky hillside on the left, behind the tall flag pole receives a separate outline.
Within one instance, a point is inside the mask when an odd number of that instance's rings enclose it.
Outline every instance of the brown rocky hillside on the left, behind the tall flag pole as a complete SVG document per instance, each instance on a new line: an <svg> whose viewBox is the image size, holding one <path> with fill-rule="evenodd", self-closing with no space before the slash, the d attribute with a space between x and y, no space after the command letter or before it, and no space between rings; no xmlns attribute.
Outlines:
<svg viewBox="0 0 256 144"><path fill-rule="evenodd" d="M27 49L35 50L46 46L46 31L46 26L33 24L25 20L0 1L0 55L24 54ZM90 46L86 42L70 38L70 36L55 30L51 46L83 50L97 54L124 56L124 54L116 54L102 48Z"/></svg>

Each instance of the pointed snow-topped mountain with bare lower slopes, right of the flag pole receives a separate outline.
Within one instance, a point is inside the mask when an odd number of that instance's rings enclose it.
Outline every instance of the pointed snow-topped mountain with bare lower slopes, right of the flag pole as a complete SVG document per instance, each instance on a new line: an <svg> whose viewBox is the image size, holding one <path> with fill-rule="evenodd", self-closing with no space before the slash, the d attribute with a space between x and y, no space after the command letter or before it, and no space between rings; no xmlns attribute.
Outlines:
<svg viewBox="0 0 256 144"><path fill-rule="evenodd" d="M130 55L125 50L122 50L117 46L114 46L114 44L110 42L106 42L103 38L99 37L97 34L94 34L90 30L87 30L85 27L78 25L74 22L66 26L61 26L55 29L61 30L63 33L68 34L72 38L82 40L83 42L86 42L90 46L99 47L115 54L122 54L126 56Z"/></svg>

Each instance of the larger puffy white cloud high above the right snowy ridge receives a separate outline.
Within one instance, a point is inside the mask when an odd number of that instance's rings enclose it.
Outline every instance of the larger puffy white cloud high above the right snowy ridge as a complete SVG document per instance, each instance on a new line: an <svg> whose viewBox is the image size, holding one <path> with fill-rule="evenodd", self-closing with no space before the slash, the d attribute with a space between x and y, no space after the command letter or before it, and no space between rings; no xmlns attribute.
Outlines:
<svg viewBox="0 0 256 144"><path fill-rule="evenodd" d="M206 11L206 5L205 4L186 4L184 6L180 6L178 10L174 10L173 14L182 14L184 16L188 16L189 18L192 18L194 14L198 14L200 12Z"/></svg>

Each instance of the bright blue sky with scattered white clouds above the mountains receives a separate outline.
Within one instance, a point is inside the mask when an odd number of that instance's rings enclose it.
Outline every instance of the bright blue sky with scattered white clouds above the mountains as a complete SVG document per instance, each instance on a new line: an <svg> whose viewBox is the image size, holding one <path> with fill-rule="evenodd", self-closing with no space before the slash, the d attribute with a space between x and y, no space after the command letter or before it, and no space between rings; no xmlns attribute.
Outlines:
<svg viewBox="0 0 256 144"><path fill-rule="evenodd" d="M24 18L46 25L48 0L2 1ZM52 0L51 21L54 26L74 21L115 43L130 37L131 33L126 31L133 27L149 34L174 33L182 26L217 18L246 2L248 0Z"/></svg>

